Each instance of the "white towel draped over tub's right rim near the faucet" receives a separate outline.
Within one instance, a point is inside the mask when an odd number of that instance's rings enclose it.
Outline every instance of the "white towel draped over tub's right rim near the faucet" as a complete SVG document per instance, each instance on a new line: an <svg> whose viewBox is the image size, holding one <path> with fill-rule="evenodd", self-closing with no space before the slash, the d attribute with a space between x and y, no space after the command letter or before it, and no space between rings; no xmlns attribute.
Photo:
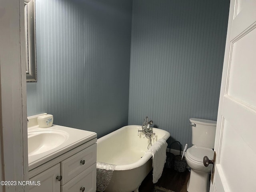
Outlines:
<svg viewBox="0 0 256 192"><path fill-rule="evenodd" d="M166 140L159 139L147 151L148 153L152 153L153 183L156 183L162 175L162 172L164 169L164 163L166 161L166 148L167 148Z"/></svg>

